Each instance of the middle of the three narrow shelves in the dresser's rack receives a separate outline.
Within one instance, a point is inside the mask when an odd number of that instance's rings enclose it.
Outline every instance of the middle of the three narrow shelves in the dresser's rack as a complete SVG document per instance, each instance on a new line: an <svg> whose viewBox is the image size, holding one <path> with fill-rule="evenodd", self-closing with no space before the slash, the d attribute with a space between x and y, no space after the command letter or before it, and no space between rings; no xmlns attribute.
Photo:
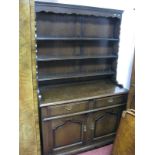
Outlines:
<svg viewBox="0 0 155 155"><path fill-rule="evenodd" d="M61 61L61 60L83 60L83 59L115 59L118 58L117 55L108 55L108 56L62 56L62 57L49 57L49 56L38 56L38 62L44 61Z"/></svg>

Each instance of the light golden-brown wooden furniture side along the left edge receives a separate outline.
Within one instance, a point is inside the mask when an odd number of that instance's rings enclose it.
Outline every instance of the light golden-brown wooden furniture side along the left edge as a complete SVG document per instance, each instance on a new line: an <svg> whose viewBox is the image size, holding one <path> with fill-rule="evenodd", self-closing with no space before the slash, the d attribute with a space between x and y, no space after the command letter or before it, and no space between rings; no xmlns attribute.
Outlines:
<svg viewBox="0 0 155 155"><path fill-rule="evenodd" d="M40 155L38 108L32 75L32 52L35 50L33 3L33 0L19 1L20 155Z"/></svg>

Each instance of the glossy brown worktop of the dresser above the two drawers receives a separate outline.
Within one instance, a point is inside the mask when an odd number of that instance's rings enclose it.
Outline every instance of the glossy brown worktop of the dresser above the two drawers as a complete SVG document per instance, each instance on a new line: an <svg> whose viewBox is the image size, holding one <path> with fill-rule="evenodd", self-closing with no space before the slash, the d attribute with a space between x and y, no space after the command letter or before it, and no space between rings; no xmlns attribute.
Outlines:
<svg viewBox="0 0 155 155"><path fill-rule="evenodd" d="M43 86L40 87L40 94L42 96L40 106L118 95L127 93L127 91L127 89L116 86L110 80L79 82L59 86Z"/></svg>

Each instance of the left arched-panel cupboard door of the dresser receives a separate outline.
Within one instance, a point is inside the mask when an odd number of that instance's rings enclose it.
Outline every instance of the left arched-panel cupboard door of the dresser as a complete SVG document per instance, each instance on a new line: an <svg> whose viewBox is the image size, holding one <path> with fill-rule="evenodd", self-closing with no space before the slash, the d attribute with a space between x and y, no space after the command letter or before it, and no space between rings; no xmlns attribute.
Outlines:
<svg viewBox="0 0 155 155"><path fill-rule="evenodd" d="M45 121L42 126L45 155L62 149L71 149L85 142L86 116Z"/></svg>

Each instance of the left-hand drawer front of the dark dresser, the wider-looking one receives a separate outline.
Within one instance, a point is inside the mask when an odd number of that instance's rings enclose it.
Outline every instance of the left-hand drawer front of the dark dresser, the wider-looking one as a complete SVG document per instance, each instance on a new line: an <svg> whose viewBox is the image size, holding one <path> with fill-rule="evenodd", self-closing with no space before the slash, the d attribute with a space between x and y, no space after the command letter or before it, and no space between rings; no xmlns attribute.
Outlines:
<svg viewBox="0 0 155 155"><path fill-rule="evenodd" d="M89 103L87 101L48 106L48 107L42 108L42 116L50 117L50 116L57 116L57 115L63 115L63 114L71 114L71 113L85 111L88 109L89 109Z"/></svg>

